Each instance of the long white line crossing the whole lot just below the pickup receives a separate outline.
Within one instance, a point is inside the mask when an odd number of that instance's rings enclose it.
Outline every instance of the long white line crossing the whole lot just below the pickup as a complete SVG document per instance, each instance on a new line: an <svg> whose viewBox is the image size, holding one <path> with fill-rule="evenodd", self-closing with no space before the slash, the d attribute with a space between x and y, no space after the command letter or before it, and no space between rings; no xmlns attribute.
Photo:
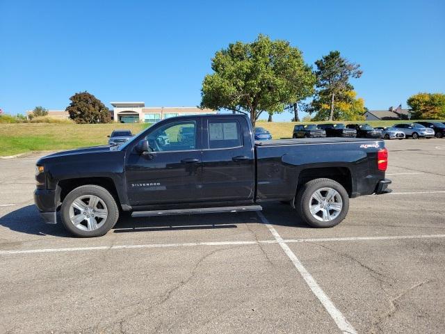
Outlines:
<svg viewBox="0 0 445 334"><path fill-rule="evenodd" d="M334 238L308 238L308 239L282 239L282 241L259 240L259 241L204 241L187 242L184 244L140 244L140 245L118 245L118 246L91 246L91 247L70 247L70 248L38 248L26 250L0 250L0 255L12 254L35 254L35 253L61 253L61 252L80 252L85 250L119 250L119 249L137 249L137 248L175 248L192 246L230 246L230 245L257 245L257 244L286 244L304 243L304 242L332 242L332 241L378 241L378 240L399 240L399 239L434 239L445 238L445 234L420 234L420 235L394 235L390 237L334 237Z"/></svg>

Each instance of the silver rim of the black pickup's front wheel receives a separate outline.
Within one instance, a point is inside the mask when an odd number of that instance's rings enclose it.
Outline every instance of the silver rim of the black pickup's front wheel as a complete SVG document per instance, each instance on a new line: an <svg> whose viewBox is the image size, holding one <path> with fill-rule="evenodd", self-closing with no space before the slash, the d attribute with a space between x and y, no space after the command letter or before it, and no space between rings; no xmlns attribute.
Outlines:
<svg viewBox="0 0 445 334"><path fill-rule="evenodd" d="M94 231L101 228L108 217L108 209L102 198L95 195L83 195L70 205L70 221L82 231Z"/></svg>

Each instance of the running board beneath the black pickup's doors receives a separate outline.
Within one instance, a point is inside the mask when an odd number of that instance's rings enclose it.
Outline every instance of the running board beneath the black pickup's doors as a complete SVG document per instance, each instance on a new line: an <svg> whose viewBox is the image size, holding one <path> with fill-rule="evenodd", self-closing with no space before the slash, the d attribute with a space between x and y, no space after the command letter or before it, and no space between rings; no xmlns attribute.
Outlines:
<svg viewBox="0 0 445 334"><path fill-rule="evenodd" d="M261 211L261 205L245 205L241 207L198 207L197 209L172 209L172 210L152 210L136 211L131 214L132 217L149 216L172 216L176 214L220 214L223 212L246 212Z"/></svg>

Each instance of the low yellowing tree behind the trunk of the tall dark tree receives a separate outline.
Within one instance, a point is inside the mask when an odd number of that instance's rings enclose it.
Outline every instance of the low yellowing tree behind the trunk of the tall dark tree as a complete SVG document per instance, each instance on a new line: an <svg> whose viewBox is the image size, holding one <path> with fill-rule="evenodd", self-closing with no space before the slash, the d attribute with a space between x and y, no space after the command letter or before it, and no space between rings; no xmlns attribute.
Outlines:
<svg viewBox="0 0 445 334"><path fill-rule="evenodd" d="M332 118L334 120L364 120L364 100L356 96L357 93L354 90L348 90L337 95ZM331 97L326 94L318 94L316 99L312 101L309 113L316 113L313 120L323 121L330 118L331 110Z"/></svg>

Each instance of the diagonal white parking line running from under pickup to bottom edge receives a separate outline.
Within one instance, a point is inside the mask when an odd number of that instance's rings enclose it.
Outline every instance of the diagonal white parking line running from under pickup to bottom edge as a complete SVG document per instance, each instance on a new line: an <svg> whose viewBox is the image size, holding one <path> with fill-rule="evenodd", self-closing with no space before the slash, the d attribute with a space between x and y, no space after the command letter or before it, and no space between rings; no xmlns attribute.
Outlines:
<svg viewBox="0 0 445 334"><path fill-rule="evenodd" d="M348 320L343 316L343 314L334 305L334 303L332 303L327 294L325 294L323 289L321 289L320 285L318 285L309 271L307 271L300 260L298 260L298 257L296 257L291 248L289 248L282 237L280 237L280 234L278 234L277 230L275 230L275 228L270 225L266 217L261 212L257 212L257 215L264 223L264 225L266 225L266 227L269 229L270 233L272 233L273 237L275 237L275 240L281 246L282 250L284 250L284 253L286 253L289 259L291 259L293 265L296 267L302 278L305 280L306 284L324 306L325 310L327 310L329 315L335 321L335 324L337 324L337 327L340 329L340 331L342 333L357 334L354 327L348 322Z"/></svg>

